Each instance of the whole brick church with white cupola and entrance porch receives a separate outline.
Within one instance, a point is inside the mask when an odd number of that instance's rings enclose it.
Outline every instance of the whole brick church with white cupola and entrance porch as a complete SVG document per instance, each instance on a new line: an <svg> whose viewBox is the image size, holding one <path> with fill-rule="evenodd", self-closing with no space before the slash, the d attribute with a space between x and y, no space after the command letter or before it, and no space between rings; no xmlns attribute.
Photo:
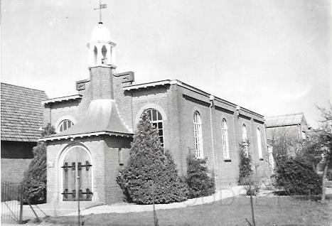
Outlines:
<svg viewBox="0 0 332 226"><path fill-rule="evenodd" d="M134 72L117 72L116 44L101 22L87 44L90 76L76 95L43 102L47 143L47 202L117 203L116 177L129 158L141 114L148 112L180 175L187 156L207 158L217 189L237 185L239 144L247 139L255 172L267 176L264 117L179 80L134 84Z"/></svg>

